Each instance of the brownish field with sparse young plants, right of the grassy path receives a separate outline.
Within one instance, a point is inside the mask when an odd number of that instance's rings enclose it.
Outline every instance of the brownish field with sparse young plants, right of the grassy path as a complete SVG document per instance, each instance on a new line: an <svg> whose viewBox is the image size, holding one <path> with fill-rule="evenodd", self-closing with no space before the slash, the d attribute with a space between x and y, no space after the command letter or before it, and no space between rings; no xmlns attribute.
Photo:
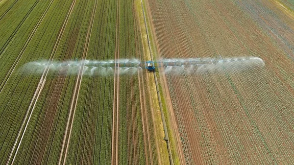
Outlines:
<svg viewBox="0 0 294 165"><path fill-rule="evenodd" d="M157 60L253 56L264 62L179 74L159 69L181 164L292 164L293 1L148 3Z"/></svg>

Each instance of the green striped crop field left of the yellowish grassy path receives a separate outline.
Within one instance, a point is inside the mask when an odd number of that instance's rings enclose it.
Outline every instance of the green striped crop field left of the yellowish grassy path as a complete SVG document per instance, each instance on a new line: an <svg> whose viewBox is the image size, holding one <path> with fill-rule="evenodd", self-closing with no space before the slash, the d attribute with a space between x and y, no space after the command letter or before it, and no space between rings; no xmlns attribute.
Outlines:
<svg viewBox="0 0 294 165"><path fill-rule="evenodd" d="M85 66L147 58L139 2L0 0L1 165L168 163L149 73Z"/></svg>

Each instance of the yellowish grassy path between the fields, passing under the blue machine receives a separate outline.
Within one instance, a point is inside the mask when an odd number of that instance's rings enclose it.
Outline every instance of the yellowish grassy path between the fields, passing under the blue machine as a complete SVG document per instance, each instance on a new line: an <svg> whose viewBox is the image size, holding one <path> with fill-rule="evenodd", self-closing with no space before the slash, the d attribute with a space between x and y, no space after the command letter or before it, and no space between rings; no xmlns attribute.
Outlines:
<svg viewBox="0 0 294 165"><path fill-rule="evenodd" d="M142 43L142 55L141 61L149 61L151 58L151 49L149 49L151 43L153 47L153 37L152 40L148 38L148 28L150 27L149 21L152 20L149 16L147 16L148 2L145 0L138 0L135 2L136 13L137 15L137 23L139 25L139 31ZM145 15L146 14L146 15ZM147 17L146 17L147 16ZM148 27L148 28L147 28ZM154 75L150 72L143 72L140 74L141 82L143 88L141 88L142 99L144 100L142 111L142 121L145 122L143 125L145 130L147 131L144 136L146 137L145 147L147 148L148 155L150 157L150 164L170 164L169 160L169 152L167 151L167 143L164 140L164 130L163 130L163 120L161 118L159 100L154 97L157 95L157 90L155 86ZM152 154L152 155L151 155Z"/></svg>

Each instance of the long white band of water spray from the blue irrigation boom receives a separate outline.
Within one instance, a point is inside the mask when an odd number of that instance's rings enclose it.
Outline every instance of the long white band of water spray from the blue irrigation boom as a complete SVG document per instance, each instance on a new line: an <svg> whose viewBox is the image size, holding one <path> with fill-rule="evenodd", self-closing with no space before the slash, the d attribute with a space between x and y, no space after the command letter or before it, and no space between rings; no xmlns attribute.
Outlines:
<svg viewBox="0 0 294 165"><path fill-rule="evenodd" d="M172 58L162 61L140 61L138 59L115 60L80 60L80 61L34 61L26 63L19 71L25 73L42 73L46 67L49 71L62 71L67 75L78 74L79 68L84 67L83 75L108 76L114 75L114 69L118 68L119 74L136 74L146 69L155 71L156 68L164 68L165 73L197 74L199 72L215 71L244 71L252 68L263 67L265 63L258 57L235 57L235 58Z"/></svg>

